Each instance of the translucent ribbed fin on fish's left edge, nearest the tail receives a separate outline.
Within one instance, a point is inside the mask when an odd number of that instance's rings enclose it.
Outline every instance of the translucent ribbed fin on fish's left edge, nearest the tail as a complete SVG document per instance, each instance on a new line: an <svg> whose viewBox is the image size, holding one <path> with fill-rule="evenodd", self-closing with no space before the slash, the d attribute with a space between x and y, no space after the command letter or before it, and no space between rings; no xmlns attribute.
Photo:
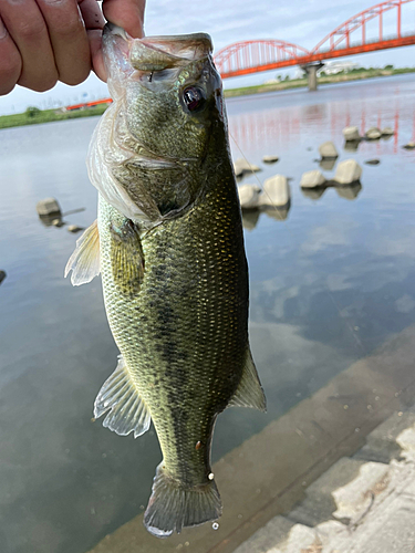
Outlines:
<svg viewBox="0 0 415 553"><path fill-rule="evenodd" d="M114 373L105 380L94 403L94 417L104 418L103 426L120 436L134 431L134 438L146 432L152 421L148 408L131 379L123 356Z"/></svg>

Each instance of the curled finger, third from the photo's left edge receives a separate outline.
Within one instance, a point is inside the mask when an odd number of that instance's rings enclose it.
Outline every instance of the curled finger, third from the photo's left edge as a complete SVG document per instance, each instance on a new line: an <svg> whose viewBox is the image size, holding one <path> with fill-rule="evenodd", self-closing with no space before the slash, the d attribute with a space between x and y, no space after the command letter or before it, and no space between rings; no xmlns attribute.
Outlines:
<svg viewBox="0 0 415 553"><path fill-rule="evenodd" d="M91 54L76 0L35 1L49 31L59 80L82 83L91 71Z"/></svg>

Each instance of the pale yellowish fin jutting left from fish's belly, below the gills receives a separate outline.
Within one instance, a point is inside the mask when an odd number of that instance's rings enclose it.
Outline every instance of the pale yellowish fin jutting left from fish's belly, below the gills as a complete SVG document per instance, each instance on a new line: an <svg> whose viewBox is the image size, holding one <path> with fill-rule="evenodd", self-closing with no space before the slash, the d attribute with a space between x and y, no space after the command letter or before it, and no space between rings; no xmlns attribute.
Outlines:
<svg viewBox="0 0 415 553"><path fill-rule="evenodd" d="M76 240L76 248L65 267L65 278L71 270L74 286L91 282L100 274L100 233L96 220Z"/></svg>

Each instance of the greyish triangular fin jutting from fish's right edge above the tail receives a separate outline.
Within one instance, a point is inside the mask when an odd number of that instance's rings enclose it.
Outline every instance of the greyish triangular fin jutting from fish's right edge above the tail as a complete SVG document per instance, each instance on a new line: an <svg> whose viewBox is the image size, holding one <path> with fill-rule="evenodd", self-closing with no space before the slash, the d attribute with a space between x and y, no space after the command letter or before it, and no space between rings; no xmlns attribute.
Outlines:
<svg viewBox="0 0 415 553"><path fill-rule="evenodd" d="M259 382L259 376L249 346L247 347L242 377L234 397L228 404L228 407L234 406L252 407L253 409L259 409L260 411L267 410L266 396L263 394L261 383Z"/></svg>

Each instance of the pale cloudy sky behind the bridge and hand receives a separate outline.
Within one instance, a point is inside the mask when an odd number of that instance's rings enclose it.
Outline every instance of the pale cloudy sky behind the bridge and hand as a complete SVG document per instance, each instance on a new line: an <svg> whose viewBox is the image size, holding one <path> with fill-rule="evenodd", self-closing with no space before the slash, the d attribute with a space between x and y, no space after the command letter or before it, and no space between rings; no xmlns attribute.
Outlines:
<svg viewBox="0 0 415 553"><path fill-rule="evenodd" d="M147 0L145 33L181 34L208 32L215 51L240 40L279 39L311 50L326 34L349 18L374 6L376 0ZM335 6L335 9L333 9ZM367 38L376 35L377 19L369 24ZM415 30L415 1L403 6L403 32ZM393 34L396 9L384 14L384 35ZM415 46L384 50L353 56L362 66L414 66ZM225 81L225 87L249 86L276 77L291 76L295 69L256 73L249 77ZM107 97L106 85L91 75L77 86L58 83L52 91L35 93L17 86L7 96L0 96L0 115L19 113L29 105L49 108L82 101Z"/></svg>

